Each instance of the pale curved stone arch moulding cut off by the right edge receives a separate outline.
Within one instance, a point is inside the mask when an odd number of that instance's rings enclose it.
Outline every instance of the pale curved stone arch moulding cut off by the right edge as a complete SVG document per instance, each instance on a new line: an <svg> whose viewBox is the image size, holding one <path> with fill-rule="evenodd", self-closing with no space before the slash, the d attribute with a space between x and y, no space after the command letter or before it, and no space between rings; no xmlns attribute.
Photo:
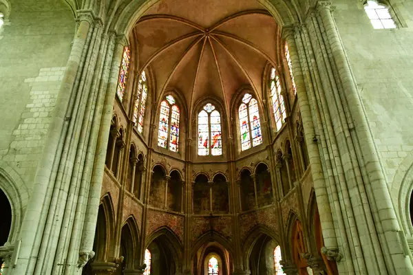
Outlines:
<svg viewBox="0 0 413 275"><path fill-rule="evenodd" d="M390 186L390 196L394 210L399 218L405 234L413 236L413 225L410 220L410 196L413 192L413 152L410 152L396 170Z"/></svg>

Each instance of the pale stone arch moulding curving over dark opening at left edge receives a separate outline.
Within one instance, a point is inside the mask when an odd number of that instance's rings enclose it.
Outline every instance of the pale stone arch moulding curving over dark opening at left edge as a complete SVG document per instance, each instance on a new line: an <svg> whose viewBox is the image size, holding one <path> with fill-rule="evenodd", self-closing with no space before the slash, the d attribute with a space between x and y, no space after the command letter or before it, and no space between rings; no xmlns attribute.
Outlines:
<svg viewBox="0 0 413 275"><path fill-rule="evenodd" d="M25 206L28 204L29 192L19 173L3 161L0 161L0 188L8 197L12 208L12 224L8 243L13 243L20 232Z"/></svg>

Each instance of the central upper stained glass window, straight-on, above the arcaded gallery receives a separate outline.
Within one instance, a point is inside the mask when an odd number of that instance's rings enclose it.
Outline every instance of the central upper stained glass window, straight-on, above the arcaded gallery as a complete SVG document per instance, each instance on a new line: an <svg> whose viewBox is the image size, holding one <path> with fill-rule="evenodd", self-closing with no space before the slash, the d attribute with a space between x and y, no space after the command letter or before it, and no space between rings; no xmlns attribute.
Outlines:
<svg viewBox="0 0 413 275"><path fill-rule="evenodd" d="M222 155L221 115L208 103L198 113L198 155Z"/></svg>

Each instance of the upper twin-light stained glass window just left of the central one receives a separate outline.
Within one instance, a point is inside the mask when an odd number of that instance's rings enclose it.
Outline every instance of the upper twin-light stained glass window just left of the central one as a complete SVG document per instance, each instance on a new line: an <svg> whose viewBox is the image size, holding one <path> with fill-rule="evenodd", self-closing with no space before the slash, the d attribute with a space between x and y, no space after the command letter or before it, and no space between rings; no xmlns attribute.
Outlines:
<svg viewBox="0 0 413 275"><path fill-rule="evenodd" d="M178 152L180 110L173 96L160 103L158 146ZM169 123L170 122L170 123Z"/></svg>

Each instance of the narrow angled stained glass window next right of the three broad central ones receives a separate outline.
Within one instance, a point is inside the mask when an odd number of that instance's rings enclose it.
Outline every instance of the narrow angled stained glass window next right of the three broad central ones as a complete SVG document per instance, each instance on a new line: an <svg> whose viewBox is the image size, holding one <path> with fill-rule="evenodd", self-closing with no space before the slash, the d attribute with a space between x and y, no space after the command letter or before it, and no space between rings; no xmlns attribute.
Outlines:
<svg viewBox="0 0 413 275"><path fill-rule="evenodd" d="M275 126L277 131L281 129L282 124L286 118L286 107L284 104L284 97L281 94L281 84L275 69L271 69L270 77L271 102L273 103L273 112L275 117Z"/></svg>

